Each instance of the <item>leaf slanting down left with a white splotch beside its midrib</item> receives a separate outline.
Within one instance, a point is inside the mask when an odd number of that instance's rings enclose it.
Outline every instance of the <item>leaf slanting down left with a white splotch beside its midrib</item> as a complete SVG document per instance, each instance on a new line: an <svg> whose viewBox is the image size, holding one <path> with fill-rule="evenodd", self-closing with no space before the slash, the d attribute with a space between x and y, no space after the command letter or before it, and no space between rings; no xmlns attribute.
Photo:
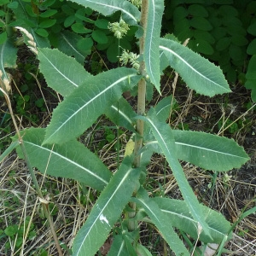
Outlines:
<svg viewBox="0 0 256 256"><path fill-rule="evenodd" d="M131 167L131 159L125 158L119 170L92 208L84 226L73 241L73 255L94 256L137 186L140 170Z"/></svg>

